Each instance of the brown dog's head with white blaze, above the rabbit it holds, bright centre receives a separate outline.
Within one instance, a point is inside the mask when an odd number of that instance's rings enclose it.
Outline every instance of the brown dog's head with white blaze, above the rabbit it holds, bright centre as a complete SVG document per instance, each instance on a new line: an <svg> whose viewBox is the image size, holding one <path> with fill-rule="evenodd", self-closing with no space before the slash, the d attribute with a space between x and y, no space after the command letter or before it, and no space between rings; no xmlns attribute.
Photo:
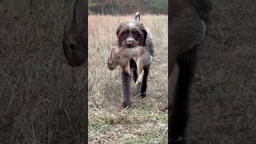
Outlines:
<svg viewBox="0 0 256 144"><path fill-rule="evenodd" d="M118 26L116 34L119 47L133 48L135 46L145 46L147 32L142 22L135 20L122 22Z"/></svg>

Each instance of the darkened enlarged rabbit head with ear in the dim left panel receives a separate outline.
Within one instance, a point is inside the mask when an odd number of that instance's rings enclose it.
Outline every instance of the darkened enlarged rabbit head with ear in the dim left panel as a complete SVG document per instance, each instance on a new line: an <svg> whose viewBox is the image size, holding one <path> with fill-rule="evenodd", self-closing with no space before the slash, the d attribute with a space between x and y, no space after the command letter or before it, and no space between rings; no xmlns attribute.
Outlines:
<svg viewBox="0 0 256 144"><path fill-rule="evenodd" d="M62 45L70 66L81 66L86 62L88 48L86 46L86 1L74 2L73 20L65 26Z"/></svg>

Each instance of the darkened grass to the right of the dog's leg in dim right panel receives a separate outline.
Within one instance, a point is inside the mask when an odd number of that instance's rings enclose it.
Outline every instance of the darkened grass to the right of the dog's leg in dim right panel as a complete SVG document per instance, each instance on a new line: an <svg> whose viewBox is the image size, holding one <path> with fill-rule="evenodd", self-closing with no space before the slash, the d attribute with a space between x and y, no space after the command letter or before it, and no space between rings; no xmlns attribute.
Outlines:
<svg viewBox="0 0 256 144"><path fill-rule="evenodd" d="M198 50L191 89L188 139L255 143L256 1L211 2L210 26Z"/></svg>

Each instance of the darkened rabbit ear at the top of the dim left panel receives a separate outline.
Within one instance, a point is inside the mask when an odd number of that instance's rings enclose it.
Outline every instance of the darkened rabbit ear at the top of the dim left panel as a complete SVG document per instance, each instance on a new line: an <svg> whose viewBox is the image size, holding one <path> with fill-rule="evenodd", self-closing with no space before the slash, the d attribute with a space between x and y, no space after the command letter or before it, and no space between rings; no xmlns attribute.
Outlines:
<svg viewBox="0 0 256 144"><path fill-rule="evenodd" d="M76 0L74 22L78 25L79 30L86 28L86 0Z"/></svg>

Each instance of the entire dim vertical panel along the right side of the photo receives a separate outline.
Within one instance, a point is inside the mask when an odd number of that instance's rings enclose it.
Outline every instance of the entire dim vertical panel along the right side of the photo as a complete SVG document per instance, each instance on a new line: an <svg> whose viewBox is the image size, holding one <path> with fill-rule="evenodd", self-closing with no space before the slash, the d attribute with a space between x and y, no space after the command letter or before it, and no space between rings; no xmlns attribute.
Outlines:
<svg viewBox="0 0 256 144"><path fill-rule="evenodd" d="M169 142L255 143L256 2L169 2Z"/></svg>

